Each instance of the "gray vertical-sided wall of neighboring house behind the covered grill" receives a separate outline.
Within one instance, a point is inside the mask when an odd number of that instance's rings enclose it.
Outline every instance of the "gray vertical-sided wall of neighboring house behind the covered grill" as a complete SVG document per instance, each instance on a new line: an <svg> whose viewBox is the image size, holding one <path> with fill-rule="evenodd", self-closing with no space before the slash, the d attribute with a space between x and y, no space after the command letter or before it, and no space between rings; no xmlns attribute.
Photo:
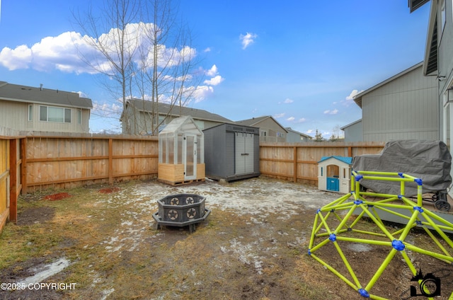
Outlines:
<svg viewBox="0 0 453 300"><path fill-rule="evenodd" d="M422 64L371 88L360 98L363 141L439 139L437 81L423 76Z"/></svg>

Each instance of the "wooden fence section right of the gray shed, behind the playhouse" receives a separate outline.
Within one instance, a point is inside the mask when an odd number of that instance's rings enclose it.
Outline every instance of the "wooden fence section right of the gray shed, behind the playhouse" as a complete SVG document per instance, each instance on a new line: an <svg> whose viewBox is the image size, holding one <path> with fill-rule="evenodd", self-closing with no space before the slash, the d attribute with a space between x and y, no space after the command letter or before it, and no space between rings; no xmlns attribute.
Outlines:
<svg viewBox="0 0 453 300"><path fill-rule="evenodd" d="M378 154L383 148L384 143L378 142L261 142L260 173L294 183L317 185L318 162L323 156Z"/></svg>

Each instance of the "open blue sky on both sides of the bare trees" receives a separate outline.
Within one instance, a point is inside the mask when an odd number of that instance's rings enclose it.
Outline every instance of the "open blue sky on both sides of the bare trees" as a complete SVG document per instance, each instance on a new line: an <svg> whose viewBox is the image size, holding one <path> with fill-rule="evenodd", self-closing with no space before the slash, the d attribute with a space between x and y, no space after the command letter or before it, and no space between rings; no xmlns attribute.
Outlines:
<svg viewBox="0 0 453 300"><path fill-rule="evenodd" d="M68 38L79 32L71 10L86 11L90 1L0 3L0 81L81 92L95 104L91 132L120 131L119 122L103 117L111 108L119 116L120 103L93 80L96 74L84 72ZM181 0L205 71L198 88L207 91L189 106L234 121L272 115L285 127L311 136L318 129L328 138L360 119L351 98L357 91L423 60L429 5L409 13L407 4Z"/></svg>

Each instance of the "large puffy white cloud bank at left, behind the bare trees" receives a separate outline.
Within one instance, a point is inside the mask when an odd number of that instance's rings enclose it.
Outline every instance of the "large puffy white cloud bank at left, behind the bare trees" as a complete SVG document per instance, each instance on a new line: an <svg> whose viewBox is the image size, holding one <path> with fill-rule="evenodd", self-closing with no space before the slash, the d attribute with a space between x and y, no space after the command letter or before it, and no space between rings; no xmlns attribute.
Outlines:
<svg viewBox="0 0 453 300"><path fill-rule="evenodd" d="M147 31L154 28L152 23L130 23L127 24L125 36L130 37L125 42L125 52L134 53L134 62L142 65L137 47L149 55L146 63L151 64L154 59L153 46L146 37ZM82 36L74 31L65 32L55 37L44 37L31 47L20 45L14 49L4 47L0 52L0 64L9 70L35 69L38 71L60 70L74 72L76 74L95 74L98 70L110 71L112 67L105 59L105 56L98 52L93 44L103 43L106 52L115 54L115 35L117 28L112 28L108 33L102 34L98 40L87 35ZM192 47L183 46L180 48L158 45L159 67L173 67L180 62L188 62L197 55L197 50ZM82 62L81 57L89 59L93 68ZM115 57L115 55L112 55Z"/></svg>

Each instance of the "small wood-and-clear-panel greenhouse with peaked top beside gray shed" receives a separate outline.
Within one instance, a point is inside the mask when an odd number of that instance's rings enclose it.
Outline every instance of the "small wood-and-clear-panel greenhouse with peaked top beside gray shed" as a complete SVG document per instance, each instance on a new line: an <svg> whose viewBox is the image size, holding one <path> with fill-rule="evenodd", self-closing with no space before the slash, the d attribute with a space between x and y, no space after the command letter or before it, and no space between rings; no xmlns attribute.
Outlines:
<svg viewBox="0 0 453 300"><path fill-rule="evenodd" d="M168 123L159 133L158 180L171 185L205 180L204 142L192 117Z"/></svg>

